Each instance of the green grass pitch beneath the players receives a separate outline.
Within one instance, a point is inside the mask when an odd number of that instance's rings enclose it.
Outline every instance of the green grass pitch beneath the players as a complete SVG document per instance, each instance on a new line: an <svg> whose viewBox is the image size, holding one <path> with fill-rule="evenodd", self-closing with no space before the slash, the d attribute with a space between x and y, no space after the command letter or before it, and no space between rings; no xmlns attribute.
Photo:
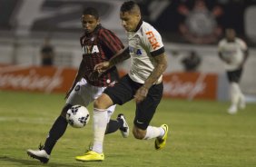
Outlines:
<svg viewBox="0 0 256 167"><path fill-rule="evenodd" d="M140 141L120 132L105 136L103 162L76 162L92 141L92 118L83 129L68 127L47 164L31 159L26 149L44 143L64 105L64 94L0 91L0 166L50 167L252 167L256 166L256 104L229 115L229 103L163 99L152 125L167 123L166 147L154 150L154 140ZM92 111L92 105L89 110ZM134 102L117 106L133 127Z"/></svg>

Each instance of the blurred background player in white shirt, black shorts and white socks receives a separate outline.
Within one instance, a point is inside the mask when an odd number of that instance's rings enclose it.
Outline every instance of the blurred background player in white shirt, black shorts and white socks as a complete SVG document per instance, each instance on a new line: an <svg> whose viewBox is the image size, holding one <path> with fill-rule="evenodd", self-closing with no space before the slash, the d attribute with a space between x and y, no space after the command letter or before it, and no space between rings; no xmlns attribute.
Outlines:
<svg viewBox="0 0 256 167"><path fill-rule="evenodd" d="M239 82L243 65L248 57L248 47L243 40L236 37L234 29L227 28L225 38L219 42L218 51L231 86L231 106L228 113L234 114L237 113L238 108L245 108L245 99Z"/></svg>

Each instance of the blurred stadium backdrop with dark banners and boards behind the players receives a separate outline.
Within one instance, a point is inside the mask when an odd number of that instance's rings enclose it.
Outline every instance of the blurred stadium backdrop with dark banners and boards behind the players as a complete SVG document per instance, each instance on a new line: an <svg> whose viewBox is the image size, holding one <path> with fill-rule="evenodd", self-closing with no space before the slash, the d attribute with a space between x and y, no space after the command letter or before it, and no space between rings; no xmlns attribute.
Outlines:
<svg viewBox="0 0 256 167"><path fill-rule="evenodd" d="M233 26L238 36L250 46L241 89L249 101L254 101L255 1L204 0L202 6L188 0L137 2L142 7L143 19L162 34L168 54L165 97L229 98L216 44L223 37L224 28ZM65 92L72 83L72 76L67 76L64 71L74 74L81 61L79 37L83 33L80 23L83 7L99 8L103 26L113 30L127 44L119 20L122 3L122 0L0 0L0 89ZM50 72L48 67L40 67L40 49L45 37L51 38L55 50L54 69ZM181 62L192 52L198 54L202 62L196 73L188 74ZM119 68L125 73L128 66L129 61L120 64ZM17 81L21 84L15 84Z"/></svg>

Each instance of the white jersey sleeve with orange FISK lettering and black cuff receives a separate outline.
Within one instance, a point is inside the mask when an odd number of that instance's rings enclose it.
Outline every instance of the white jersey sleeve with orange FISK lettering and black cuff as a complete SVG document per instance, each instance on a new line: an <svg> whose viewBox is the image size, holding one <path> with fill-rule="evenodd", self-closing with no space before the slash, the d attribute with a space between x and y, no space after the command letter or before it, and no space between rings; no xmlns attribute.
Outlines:
<svg viewBox="0 0 256 167"><path fill-rule="evenodd" d="M164 53L161 34L153 27L144 32L144 42L152 56Z"/></svg>

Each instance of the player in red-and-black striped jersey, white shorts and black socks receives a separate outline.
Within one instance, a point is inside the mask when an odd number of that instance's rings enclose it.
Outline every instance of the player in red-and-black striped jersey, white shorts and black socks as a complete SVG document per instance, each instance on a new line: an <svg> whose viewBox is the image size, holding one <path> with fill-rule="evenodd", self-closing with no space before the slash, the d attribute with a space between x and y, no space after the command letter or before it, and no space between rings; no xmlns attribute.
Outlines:
<svg viewBox="0 0 256 167"><path fill-rule="evenodd" d="M55 143L63 136L67 121L65 115L73 105L87 106L94 102L107 86L113 86L118 82L118 73L115 66L99 75L94 71L95 64L110 60L114 54L123 49L120 39L108 29L105 29L99 20L96 9L88 7L84 9L81 18L84 35L80 38L83 49L83 59L75 76L74 83L66 95L66 104L60 116L54 122L44 146L39 150L27 150L28 155L38 159L40 162L48 162ZM115 105L108 107L106 119L108 128L104 133L113 133L120 130L123 137L128 137L129 126L121 113L116 120L110 120Z"/></svg>

